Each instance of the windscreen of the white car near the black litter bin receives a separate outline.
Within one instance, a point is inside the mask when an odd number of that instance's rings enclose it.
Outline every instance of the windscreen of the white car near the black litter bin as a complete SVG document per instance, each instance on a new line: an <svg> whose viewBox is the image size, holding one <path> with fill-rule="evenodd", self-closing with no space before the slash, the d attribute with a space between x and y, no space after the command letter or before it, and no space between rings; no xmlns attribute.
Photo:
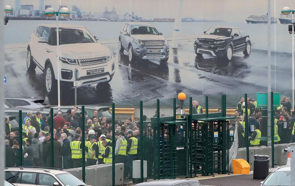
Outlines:
<svg viewBox="0 0 295 186"><path fill-rule="evenodd" d="M290 186L291 185L291 171L277 171L269 175L263 183L263 186Z"/></svg>

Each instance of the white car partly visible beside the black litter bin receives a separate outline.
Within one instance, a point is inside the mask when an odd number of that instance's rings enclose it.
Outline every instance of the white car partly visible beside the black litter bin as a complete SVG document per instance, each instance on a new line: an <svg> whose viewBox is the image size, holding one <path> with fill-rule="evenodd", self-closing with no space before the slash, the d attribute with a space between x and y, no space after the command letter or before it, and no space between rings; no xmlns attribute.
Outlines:
<svg viewBox="0 0 295 186"><path fill-rule="evenodd" d="M294 175L293 175L294 176ZM270 173L264 181L261 182L261 186L273 186L273 185L291 185L291 166L285 165L278 167L275 171Z"/></svg>

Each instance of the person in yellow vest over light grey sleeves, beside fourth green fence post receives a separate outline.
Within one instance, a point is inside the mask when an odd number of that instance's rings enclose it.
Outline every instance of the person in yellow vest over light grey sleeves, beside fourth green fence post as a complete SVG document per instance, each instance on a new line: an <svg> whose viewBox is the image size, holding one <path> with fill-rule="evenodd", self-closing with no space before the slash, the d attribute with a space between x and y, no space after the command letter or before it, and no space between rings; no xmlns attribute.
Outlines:
<svg viewBox="0 0 295 186"><path fill-rule="evenodd" d="M127 155L126 154L127 140L124 138L124 136L125 136L124 132L120 132L118 139L116 141L116 148L115 148L116 163L125 163L125 158Z"/></svg>

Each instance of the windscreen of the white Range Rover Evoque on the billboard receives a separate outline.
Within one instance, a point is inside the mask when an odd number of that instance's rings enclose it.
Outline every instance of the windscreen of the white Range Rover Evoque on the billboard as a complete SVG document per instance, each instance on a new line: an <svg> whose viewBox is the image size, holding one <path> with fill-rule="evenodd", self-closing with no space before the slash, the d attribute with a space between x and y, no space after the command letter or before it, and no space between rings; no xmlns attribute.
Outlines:
<svg viewBox="0 0 295 186"><path fill-rule="evenodd" d="M60 45L94 42L85 28L59 28L58 38ZM56 45L56 28L51 28L51 45Z"/></svg>

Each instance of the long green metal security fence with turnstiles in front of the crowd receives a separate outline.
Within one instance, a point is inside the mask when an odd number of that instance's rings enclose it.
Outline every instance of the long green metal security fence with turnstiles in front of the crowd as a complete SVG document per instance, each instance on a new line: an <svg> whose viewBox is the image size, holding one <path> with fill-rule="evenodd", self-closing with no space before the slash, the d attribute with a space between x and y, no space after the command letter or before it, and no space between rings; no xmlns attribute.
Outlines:
<svg viewBox="0 0 295 186"><path fill-rule="evenodd" d="M286 164L292 91L6 110L6 167L64 169L91 185L124 185ZM183 101L181 99L184 99ZM29 149L33 148L33 154Z"/></svg>

